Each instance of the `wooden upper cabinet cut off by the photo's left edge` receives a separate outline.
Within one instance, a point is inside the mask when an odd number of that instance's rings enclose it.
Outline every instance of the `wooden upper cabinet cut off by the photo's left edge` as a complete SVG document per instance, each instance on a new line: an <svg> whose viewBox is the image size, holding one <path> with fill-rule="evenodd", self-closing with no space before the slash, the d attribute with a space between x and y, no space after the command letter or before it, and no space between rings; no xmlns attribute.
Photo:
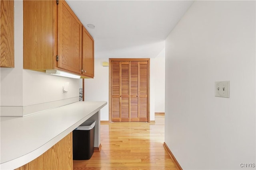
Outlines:
<svg viewBox="0 0 256 170"><path fill-rule="evenodd" d="M14 67L14 1L0 0L0 66Z"/></svg>

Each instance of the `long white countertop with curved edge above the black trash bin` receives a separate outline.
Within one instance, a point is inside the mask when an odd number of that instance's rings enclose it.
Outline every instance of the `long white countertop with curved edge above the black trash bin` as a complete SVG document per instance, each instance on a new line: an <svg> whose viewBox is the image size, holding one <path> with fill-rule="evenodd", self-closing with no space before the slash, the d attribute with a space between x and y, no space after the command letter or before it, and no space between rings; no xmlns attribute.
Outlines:
<svg viewBox="0 0 256 170"><path fill-rule="evenodd" d="M0 117L0 169L15 169L34 160L106 104L76 102L26 117Z"/></svg>

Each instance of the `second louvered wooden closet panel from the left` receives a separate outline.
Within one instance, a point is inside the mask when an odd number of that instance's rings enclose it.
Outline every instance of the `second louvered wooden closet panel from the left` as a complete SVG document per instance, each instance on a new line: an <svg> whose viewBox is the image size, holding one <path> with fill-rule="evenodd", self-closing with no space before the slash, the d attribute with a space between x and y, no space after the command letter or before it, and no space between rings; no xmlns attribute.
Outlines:
<svg viewBox="0 0 256 170"><path fill-rule="evenodd" d="M121 67L121 121L129 121L129 62L120 62Z"/></svg>

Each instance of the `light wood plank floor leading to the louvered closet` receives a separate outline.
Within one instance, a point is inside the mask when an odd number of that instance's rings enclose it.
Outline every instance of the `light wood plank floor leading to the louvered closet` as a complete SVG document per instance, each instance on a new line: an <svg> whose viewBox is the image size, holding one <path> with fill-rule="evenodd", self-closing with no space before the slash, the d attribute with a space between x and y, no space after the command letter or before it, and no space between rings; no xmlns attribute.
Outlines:
<svg viewBox="0 0 256 170"><path fill-rule="evenodd" d="M74 170L177 170L164 143L164 115L156 123L101 123L100 152L74 160Z"/></svg>

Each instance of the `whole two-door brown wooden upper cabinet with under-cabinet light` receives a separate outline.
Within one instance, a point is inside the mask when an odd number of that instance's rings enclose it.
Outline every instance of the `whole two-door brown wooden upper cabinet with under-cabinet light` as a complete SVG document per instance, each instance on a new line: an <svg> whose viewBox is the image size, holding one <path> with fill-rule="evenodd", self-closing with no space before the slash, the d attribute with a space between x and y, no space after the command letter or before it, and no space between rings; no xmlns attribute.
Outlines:
<svg viewBox="0 0 256 170"><path fill-rule="evenodd" d="M94 57L84 57L86 51L94 55L94 40L66 1L25 0L23 13L24 69L56 69L94 77ZM87 37L82 36L84 29Z"/></svg>

